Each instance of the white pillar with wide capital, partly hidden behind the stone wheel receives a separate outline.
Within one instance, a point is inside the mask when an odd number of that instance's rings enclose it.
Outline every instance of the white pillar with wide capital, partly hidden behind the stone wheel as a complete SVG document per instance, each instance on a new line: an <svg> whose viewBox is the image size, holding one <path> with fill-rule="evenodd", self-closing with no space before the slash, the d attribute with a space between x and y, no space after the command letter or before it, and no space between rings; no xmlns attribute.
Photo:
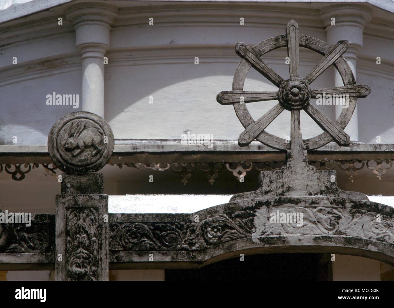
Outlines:
<svg viewBox="0 0 394 308"><path fill-rule="evenodd" d="M325 31L327 32L327 43L335 45L340 40L348 40L349 48L343 54L357 80L356 67L357 55L362 48L362 32L367 22L372 19L372 13L367 6L358 4L333 5L321 9L321 17ZM335 18L335 25L332 23ZM343 85L342 78L337 70L334 73L335 87ZM335 106L335 117L338 118L342 106ZM352 141L359 141L359 124L357 106L354 110L345 132L349 134Z"/></svg>

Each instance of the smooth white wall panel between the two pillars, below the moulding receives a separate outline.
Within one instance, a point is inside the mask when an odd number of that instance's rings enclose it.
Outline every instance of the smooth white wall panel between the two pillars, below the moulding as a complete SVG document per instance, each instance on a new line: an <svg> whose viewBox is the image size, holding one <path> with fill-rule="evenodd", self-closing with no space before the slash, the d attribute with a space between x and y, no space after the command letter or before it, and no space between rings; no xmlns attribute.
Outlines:
<svg viewBox="0 0 394 308"><path fill-rule="evenodd" d="M273 58L263 58L274 71L287 79L286 48L279 48L269 54ZM300 76L306 76L318 59L322 58L316 55L317 58L302 63ZM243 127L233 107L221 106L216 102L216 95L231 89L239 62L240 58L234 52L233 58L223 56L220 62L218 59L201 57L198 65L194 64L194 58L190 56L190 59L173 63L106 67L105 115L115 138L179 139L186 130L191 130L214 134L215 139L238 139ZM332 85L331 69L312 84L313 88ZM277 87L252 68L244 89L276 91ZM275 104L277 101L256 102L248 104L247 108L258 119ZM335 107L319 107L328 117L334 117ZM290 133L290 115L286 116L286 112L283 112L280 117L283 119L274 121L269 130L285 138ZM310 131L310 137L321 132L312 120L306 124L304 127Z"/></svg>

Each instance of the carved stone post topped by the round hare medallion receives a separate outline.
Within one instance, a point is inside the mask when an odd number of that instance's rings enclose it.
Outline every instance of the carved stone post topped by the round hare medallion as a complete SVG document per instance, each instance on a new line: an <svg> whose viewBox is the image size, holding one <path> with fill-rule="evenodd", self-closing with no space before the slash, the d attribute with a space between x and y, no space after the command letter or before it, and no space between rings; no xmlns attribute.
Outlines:
<svg viewBox="0 0 394 308"><path fill-rule="evenodd" d="M49 133L49 154L65 172L56 196L56 280L108 280L108 195L94 172L113 147L108 123L86 111L66 115Z"/></svg>

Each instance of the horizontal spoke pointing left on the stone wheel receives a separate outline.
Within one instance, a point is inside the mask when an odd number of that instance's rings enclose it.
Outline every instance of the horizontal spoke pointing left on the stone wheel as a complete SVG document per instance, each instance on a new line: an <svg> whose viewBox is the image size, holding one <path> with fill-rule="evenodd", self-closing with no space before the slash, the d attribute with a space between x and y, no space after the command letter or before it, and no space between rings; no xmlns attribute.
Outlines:
<svg viewBox="0 0 394 308"><path fill-rule="evenodd" d="M277 92L255 92L255 91L222 91L216 96L216 101L222 105L234 104L241 102L243 97L244 103L262 102L264 100L278 99Z"/></svg>

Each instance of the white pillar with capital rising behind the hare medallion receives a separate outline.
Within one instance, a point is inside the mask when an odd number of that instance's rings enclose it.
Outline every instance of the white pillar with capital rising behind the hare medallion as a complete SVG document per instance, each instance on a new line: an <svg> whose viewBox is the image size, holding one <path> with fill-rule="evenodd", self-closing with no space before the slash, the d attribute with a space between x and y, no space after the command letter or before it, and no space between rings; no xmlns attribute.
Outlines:
<svg viewBox="0 0 394 308"><path fill-rule="evenodd" d="M75 44L82 53L82 110L100 117L104 117L104 55L117 13L115 6L95 2L71 6L65 13L75 24Z"/></svg>

